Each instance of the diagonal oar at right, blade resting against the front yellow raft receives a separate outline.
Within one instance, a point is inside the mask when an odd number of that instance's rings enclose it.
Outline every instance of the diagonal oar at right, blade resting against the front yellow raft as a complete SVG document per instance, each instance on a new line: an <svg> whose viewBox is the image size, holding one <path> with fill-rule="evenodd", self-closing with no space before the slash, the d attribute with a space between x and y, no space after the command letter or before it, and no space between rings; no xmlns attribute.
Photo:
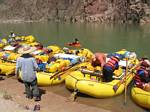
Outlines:
<svg viewBox="0 0 150 112"><path fill-rule="evenodd" d="M133 72L133 70L135 70L141 63L138 63L137 65L134 65L129 71L128 73L117 83L113 86L113 90L116 92L118 90L118 88L120 87L121 84L124 83L125 79L130 76L130 73Z"/></svg>

